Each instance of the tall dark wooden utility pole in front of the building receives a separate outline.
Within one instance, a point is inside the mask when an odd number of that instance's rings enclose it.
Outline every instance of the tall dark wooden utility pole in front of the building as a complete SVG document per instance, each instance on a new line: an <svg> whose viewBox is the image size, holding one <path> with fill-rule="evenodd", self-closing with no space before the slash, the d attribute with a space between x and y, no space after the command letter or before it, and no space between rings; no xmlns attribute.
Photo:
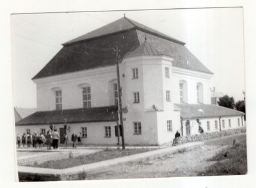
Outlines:
<svg viewBox="0 0 256 188"><path fill-rule="evenodd" d="M121 133L122 133L122 148L125 149L124 143L124 124L123 124L123 112L122 112L122 99L121 99L121 87L120 87L120 74L119 74L119 54L118 54L118 47L114 49L116 55L116 74L117 74L117 87L118 87L118 103L119 103L119 117L120 117L120 126L121 126ZM119 128L119 127L118 127Z"/></svg>

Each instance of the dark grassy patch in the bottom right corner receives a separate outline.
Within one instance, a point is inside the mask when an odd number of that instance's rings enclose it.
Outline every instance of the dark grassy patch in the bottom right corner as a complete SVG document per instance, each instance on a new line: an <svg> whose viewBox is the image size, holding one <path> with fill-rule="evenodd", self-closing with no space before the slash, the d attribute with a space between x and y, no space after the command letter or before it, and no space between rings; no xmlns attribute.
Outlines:
<svg viewBox="0 0 256 188"><path fill-rule="evenodd" d="M244 175L247 173L247 151L246 140L241 138L239 142L209 159L208 161L216 161L205 171L201 171L198 175Z"/></svg>

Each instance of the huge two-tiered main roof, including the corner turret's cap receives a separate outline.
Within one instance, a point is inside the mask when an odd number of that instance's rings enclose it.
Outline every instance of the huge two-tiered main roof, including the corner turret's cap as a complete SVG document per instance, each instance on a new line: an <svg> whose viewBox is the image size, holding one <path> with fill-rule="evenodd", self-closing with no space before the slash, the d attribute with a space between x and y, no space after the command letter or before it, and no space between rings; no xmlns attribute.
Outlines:
<svg viewBox="0 0 256 188"><path fill-rule="evenodd" d="M32 79L113 66L113 48L116 45L120 50L120 59L125 54L162 54L173 57L173 66L212 74L189 52L185 43L124 17L64 43L60 52Z"/></svg>

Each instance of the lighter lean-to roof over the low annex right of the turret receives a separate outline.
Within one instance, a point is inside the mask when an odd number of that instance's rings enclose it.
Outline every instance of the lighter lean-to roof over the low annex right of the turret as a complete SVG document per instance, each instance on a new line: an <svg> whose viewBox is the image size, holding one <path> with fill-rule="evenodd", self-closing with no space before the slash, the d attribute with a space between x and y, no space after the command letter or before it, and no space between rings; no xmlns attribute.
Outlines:
<svg viewBox="0 0 256 188"><path fill-rule="evenodd" d="M225 108L217 105L189 105L189 104L175 104L180 108L180 117L183 119L209 118L209 117L228 117L241 116L243 112Z"/></svg>

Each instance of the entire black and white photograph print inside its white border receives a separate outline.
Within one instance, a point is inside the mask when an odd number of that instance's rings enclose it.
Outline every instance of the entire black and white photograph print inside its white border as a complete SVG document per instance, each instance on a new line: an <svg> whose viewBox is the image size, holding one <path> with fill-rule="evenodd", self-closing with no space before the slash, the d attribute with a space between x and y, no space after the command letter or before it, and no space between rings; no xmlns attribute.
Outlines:
<svg viewBox="0 0 256 188"><path fill-rule="evenodd" d="M246 175L243 18L13 13L17 182Z"/></svg>

